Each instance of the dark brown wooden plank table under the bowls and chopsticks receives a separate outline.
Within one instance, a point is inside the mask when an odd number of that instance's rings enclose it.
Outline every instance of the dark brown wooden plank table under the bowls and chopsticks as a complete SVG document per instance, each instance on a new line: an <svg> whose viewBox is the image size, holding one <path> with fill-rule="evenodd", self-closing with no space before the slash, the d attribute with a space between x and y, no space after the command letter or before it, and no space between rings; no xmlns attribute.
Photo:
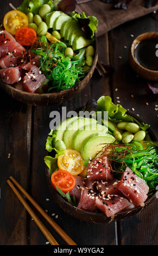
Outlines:
<svg viewBox="0 0 158 256"><path fill-rule="evenodd" d="M1 17L10 10L9 2L1 1ZM21 2L12 0L15 6ZM99 57L104 63L111 63L115 72L106 78L93 76L86 89L63 106L67 106L69 111L84 106L89 96L98 99L101 95L110 95L115 103L120 101L127 109L134 108L134 112L151 124L158 135L158 112L154 110L158 96L147 93L146 81L137 77L128 63L132 40L141 33L157 29L158 22L149 15L100 36ZM49 132L49 113L54 109L60 110L61 105L27 106L13 100L3 91L0 91L0 105L0 245L46 245L46 238L6 184L10 175L26 188L43 209L48 210L49 215L55 213L59 216L55 221L78 245L158 244L157 200L137 216L110 224L75 220L54 202L47 186L43 158L47 154L45 142ZM65 245L53 229L49 230L60 245Z"/></svg>

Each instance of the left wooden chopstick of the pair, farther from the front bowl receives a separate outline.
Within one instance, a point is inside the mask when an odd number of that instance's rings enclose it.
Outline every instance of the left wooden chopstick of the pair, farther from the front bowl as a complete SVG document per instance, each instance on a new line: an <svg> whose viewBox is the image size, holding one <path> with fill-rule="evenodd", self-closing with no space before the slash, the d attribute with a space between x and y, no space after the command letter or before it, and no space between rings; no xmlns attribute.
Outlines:
<svg viewBox="0 0 158 256"><path fill-rule="evenodd" d="M10 180L7 180L8 185L11 187L12 191L16 194L20 202L23 204L24 208L28 211L30 216L34 219L35 223L37 226L40 228L42 231L43 235L46 236L48 241L50 242L51 245L59 245L59 243L54 239L54 237L50 234L48 229L43 225L43 223L40 221L40 219L37 217L35 212L30 208L30 206L27 204L26 200L21 196L21 194L16 190L15 186L10 182Z"/></svg>

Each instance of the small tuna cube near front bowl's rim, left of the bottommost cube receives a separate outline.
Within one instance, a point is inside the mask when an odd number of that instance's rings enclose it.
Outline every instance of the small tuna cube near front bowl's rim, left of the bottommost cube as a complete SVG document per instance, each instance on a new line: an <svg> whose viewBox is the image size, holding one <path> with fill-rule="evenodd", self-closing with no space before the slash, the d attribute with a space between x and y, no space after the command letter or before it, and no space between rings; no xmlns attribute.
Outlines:
<svg viewBox="0 0 158 256"><path fill-rule="evenodd" d="M96 196L86 188L83 188L77 208L91 212L96 211Z"/></svg>

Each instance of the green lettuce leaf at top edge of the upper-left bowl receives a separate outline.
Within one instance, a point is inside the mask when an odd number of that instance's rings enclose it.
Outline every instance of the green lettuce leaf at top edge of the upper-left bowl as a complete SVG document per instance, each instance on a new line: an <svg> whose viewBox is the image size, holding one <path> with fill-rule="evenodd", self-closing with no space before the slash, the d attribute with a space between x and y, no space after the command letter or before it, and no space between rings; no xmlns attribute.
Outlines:
<svg viewBox="0 0 158 256"><path fill-rule="evenodd" d="M39 10L43 4L48 4L52 10L54 9L52 0L24 0L17 10L20 10L25 14L31 12L35 15L39 14Z"/></svg>

